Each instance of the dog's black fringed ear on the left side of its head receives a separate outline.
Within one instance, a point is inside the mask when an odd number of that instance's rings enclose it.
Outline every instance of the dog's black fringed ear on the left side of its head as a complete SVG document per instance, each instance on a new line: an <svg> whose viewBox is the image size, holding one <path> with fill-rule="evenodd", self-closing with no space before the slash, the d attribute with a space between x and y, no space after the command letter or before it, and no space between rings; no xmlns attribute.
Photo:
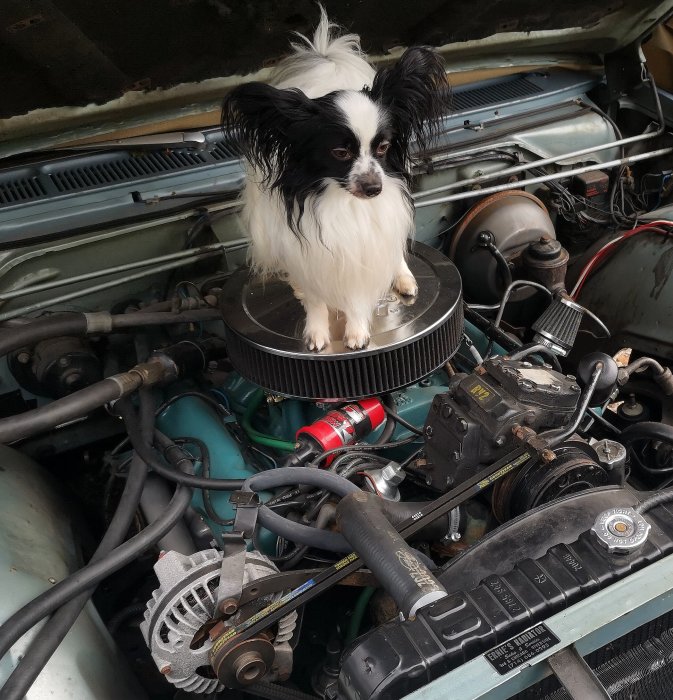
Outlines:
<svg viewBox="0 0 673 700"><path fill-rule="evenodd" d="M235 133L243 155L269 183L274 172L282 169L293 135L315 111L315 105L301 90L246 83L224 99L222 127Z"/></svg>

